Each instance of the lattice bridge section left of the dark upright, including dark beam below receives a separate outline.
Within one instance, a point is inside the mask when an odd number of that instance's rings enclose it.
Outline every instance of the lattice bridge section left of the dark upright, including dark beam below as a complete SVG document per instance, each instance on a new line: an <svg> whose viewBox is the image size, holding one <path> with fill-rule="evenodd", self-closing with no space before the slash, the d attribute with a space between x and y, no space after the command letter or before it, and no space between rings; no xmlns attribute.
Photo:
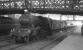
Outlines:
<svg viewBox="0 0 83 50"><path fill-rule="evenodd" d="M24 13L25 0L0 0L0 15Z"/></svg>

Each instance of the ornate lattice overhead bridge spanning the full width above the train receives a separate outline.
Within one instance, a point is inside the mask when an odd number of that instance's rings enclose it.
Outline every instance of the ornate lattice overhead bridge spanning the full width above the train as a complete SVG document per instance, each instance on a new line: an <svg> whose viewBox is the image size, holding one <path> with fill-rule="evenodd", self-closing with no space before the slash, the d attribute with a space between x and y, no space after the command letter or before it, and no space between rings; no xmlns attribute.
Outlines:
<svg viewBox="0 0 83 50"><path fill-rule="evenodd" d="M0 0L2 10L24 10L34 13L83 14L83 0Z"/></svg>

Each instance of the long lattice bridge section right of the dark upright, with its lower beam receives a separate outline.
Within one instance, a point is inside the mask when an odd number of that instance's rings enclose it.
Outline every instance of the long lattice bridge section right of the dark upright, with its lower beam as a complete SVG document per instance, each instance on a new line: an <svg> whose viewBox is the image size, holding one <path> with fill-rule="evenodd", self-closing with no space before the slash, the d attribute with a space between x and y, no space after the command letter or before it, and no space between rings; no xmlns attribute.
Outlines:
<svg viewBox="0 0 83 50"><path fill-rule="evenodd" d="M82 14L83 0L26 0L26 7L39 13Z"/></svg>

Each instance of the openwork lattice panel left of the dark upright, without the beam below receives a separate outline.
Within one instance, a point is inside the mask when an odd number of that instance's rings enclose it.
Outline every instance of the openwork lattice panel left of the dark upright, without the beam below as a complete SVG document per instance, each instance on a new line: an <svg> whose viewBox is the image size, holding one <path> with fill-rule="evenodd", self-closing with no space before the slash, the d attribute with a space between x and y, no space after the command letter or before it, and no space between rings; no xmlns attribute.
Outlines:
<svg viewBox="0 0 83 50"><path fill-rule="evenodd" d="M24 9L25 0L0 0L0 9Z"/></svg>

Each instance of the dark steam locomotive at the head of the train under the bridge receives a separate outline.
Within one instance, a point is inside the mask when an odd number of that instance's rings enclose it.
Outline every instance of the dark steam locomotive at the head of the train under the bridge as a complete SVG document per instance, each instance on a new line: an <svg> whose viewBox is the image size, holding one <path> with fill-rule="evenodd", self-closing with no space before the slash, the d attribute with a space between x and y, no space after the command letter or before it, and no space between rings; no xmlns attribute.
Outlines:
<svg viewBox="0 0 83 50"><path fill-rule="evenodd" d="M51 25L47 18L42 16L22 15L19 24L11 30L11 36L18 41L46 38L52 35Z"/></svg>

